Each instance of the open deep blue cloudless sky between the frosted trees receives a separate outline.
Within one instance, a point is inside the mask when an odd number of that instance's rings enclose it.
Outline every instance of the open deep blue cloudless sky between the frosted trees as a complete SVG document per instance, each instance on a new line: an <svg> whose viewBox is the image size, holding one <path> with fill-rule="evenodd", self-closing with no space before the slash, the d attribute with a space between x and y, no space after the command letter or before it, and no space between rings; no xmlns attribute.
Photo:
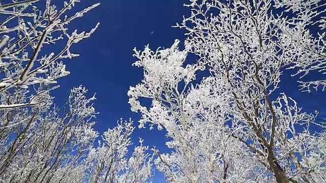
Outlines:
<svg viewBox="0 0 326 183"><path fill-rule="evenodd" d="M55 2L62 1L52 1ZM91 38L72 47L71 51L80 56L65 61L71 74L58 80L61 88L53 94L59 103L63 102L69 90L80 84L89 89L90 95L96 93L94 105L100 114L95 130L102 132L114 127L121 117L131 117L138 125L139 114L130 111L127 91L130 85L141 81L143 71L131 66L135 62L132 49L143 49L147 44L152 49L169 47L175 39L182 40L184 31L171 26L181 22L182 16L189 10L183 7L187 1L181 0L84 0L77 7L84 8L97 2L101 3L98 8L71 24L73 29L82 31L90 30L98 21L101 23ZM297 83L290 77L284 77L281 87L305 109L319 109L325 114L325 93L297 92ZM149 146L156 144L164 148L163 131L136 129L134 140L138 140L139 136Z"/></svg>

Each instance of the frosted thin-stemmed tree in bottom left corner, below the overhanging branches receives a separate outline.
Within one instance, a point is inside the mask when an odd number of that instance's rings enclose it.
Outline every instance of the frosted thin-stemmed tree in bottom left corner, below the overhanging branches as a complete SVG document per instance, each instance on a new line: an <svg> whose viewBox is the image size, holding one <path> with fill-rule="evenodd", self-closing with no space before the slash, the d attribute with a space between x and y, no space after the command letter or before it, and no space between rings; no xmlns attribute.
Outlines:
<svg viewBox="0 0 326 183"><path fill-rule="evenodd" d="M91 121L95 97L87 99L86 92L82 86L73 88L64 111L35 105L2 117L2 122L22 123L2 131L1 181L60 182L70 174L82 180L85 166L79 164L97 137Z"/></svg>

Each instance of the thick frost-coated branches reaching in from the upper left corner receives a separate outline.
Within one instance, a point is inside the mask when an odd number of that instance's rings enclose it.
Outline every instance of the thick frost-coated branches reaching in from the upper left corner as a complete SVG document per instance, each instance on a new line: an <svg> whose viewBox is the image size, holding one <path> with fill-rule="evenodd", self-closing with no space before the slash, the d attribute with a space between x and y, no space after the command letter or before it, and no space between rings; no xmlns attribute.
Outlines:
<svg viewBox="0 0 326 183"><path fill-rule="evenodd" d="M2 4L0 14L4 20L0 24L0 92L4 93L12 87L31 88L41 84L55 84L60 77L67 76L68 71L61 61L64 58L78 56L70 52L70 47L80 40L90 37L98 27L89 33L69 33L67 25L74 19L84 16L88 11L96 8L99 3L75 15L68 17L66 12L72 11L79 0L70 0L64 3L62 9L57 9L50 0L46 1L13 1ZM38 6L34 6L38 3ZM43 8L40 6L43 5ZM43 10L42 10L43 9ZM66 41L66 45L59 51L48 52L47 47ZM59 45L59 44L57 44ZM51 48L53 50L53 48ZM48 87L53 89L57 86ZM48 91L42 91L49 92ZM39 93L32 94L38 96ZM32 98L31 98L32 100ZM42 101L41 101L42 102ZM45 101L43 101L45 102ZM26 103L1 103L1 108L23 107L34 105L32 101Z"/></svg>

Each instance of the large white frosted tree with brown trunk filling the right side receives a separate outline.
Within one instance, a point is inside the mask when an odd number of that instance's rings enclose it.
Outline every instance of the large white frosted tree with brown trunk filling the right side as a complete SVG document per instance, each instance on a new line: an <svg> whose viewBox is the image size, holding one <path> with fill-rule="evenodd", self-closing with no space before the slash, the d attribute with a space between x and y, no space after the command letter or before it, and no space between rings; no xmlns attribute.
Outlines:
<svg viewBox="0 0 326 183"><path fill-rule="evenodd" d="M158 170L170 182L325 182L325 123L278 90L285 69L300 78L325 71L325 1L185 6L184 50L176 41L134 54L144 78L129 89L131 110L142 114L139 127L157 125L172 139L172 153L154 149ZM196 63L185 64L189 53ZM309 92L326 86L299 82Z"/></svg>

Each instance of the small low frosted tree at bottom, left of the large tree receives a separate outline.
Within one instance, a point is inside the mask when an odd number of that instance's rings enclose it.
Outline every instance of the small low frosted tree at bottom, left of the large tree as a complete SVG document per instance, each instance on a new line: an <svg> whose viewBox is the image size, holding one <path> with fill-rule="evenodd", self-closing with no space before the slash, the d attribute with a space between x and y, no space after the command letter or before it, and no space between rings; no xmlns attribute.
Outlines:
<svg viewBox="0 0 326 183"><path fill-rule="evenodd" d="M122 120L122 119L121 119ZM89 167L88 182L150 182L153 175L153 156L146 153L148 146L133 149L127 159L127 147L132 143L130 135L134 127L132 121L120 121L114 129L109 129L102 136L97 148L92 148L86 160Z"/></svg>

